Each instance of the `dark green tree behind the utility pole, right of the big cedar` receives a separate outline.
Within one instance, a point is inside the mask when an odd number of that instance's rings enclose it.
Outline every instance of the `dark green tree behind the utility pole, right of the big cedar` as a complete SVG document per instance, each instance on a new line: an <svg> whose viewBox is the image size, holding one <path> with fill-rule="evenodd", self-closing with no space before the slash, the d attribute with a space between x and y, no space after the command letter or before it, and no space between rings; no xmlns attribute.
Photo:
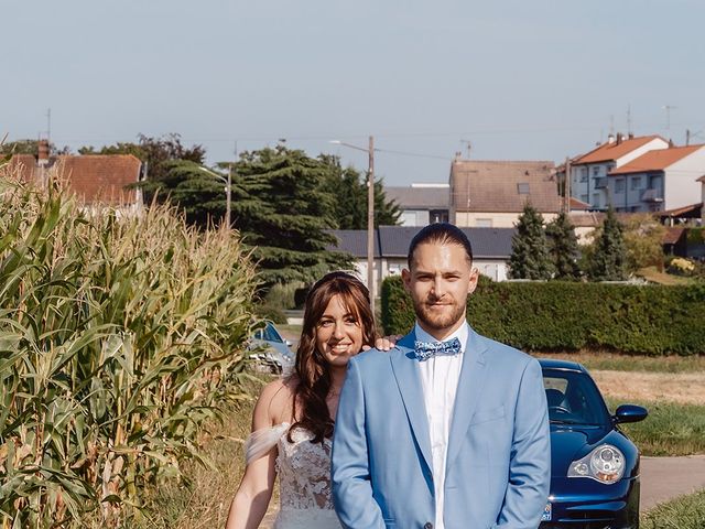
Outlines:
<svg viewBox="0 0 705 529"><path fill-rule="evenodd" d="M334 215L340 229L367 229L367 174L352 166L343 168L340 159L321 154L328 168L327 191L335 201ZM375 226L395 226L401 212L394 201L388 201L381 180L375 181Z"/></svg>

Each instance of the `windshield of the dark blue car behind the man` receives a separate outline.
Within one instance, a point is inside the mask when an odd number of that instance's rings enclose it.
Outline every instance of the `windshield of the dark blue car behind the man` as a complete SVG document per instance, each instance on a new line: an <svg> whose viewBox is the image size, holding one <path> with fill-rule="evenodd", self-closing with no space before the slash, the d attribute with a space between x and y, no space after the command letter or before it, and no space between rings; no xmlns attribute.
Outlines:
<svg viewBox="0 0 705 529"><path fill-rule="evenodd" d="M584 373L544 369L549 419L554 424L606 424L609 413L597 386Z"/></svg>

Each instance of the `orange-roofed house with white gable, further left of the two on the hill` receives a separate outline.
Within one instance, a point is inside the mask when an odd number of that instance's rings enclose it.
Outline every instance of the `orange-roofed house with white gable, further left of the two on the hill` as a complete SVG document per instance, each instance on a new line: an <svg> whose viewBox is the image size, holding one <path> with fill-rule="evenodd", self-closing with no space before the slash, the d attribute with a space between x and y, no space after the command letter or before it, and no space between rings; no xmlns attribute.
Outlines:
<svg viewBox="0 0 705 529"><path fill-rule="evenodd" d="M625 138L610 134L607 142L573 159L571 196L589 204L593 209L606 209L610 199L608 174L649 151L668 148L669 142L660 136L630 134Z"/></svg>

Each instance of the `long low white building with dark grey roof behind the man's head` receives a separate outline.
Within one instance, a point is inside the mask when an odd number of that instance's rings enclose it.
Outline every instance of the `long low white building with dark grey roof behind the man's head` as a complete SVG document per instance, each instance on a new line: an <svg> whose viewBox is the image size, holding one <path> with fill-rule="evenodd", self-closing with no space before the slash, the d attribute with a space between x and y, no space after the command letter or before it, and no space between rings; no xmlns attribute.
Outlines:
<svg viewBox="0 0 705 529"><path fill-rule="evenodd" d="M380 285L389 276L400 274L406 268L406 253L411 239L421 226L380 226L375 230L375 260L372 292L380 295ZM462 228L473 245L473 264L478 271L495 281L507 279L508 261L511 256L511 238L514 228ZM344 251L355 258L355 271L367 284L367 230L330 230L337 246L328 250Z"/></svg>

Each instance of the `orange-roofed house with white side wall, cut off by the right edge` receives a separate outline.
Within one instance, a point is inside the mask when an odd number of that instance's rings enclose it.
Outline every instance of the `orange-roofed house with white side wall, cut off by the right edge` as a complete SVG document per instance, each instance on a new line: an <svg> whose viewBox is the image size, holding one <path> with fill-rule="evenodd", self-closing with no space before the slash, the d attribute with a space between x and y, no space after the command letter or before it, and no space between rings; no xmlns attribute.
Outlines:
<svg viewBox="0 0 705 529"><path fill-rule="evenodd" d="M702 201L697 179L705 174L705 144L671 147L612 169L607 190L618 212L664 212Z"/></svg>

